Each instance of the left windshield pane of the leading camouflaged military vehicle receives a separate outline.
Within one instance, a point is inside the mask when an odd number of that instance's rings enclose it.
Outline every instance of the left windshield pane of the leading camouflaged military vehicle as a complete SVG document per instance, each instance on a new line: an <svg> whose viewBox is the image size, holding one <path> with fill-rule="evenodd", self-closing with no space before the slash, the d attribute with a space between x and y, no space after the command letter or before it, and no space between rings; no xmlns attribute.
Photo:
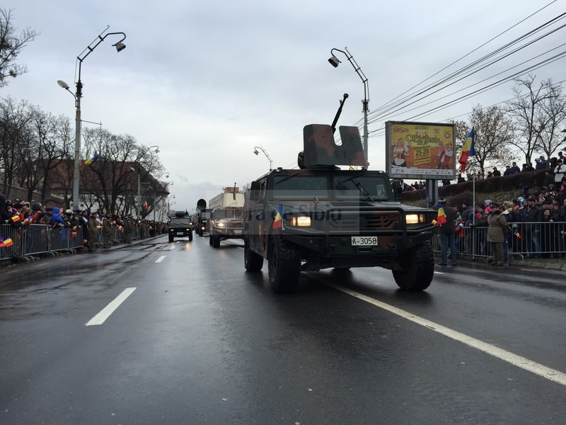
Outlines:
<svg viewBox="0 0 566 425"><path fill-rule="evenodd" d="M328 179L326 176L276 176L273 198L328 199Z"/></svg>

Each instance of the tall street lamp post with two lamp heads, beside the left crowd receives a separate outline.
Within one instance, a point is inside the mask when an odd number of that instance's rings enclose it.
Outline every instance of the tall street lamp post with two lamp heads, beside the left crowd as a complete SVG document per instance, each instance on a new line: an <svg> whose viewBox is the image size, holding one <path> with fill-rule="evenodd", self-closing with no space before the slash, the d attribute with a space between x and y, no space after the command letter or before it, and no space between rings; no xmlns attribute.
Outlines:
<svg viewBox="0 0 566 425"><path fill-rule="evenodd" d="M103 42L104 39L108 37L108 35L123 35L122 40L116 42L112 46L116 47L116 50L118 52L121 52L126 48L126 45L123 43L123 41L126 39L125 33L108 33L103 35L105 31L108 30L108 28L109 27L107 26L106 29L102 33L100 33L98 37L95 38L93 42L91 42L91 44L88 45L79 56L76 57L76 59L79 61L79 79L77 79L76 81L76 93L73 94L73 92L69 90L69 84L67 84L65 81L57 81L57 84L59 84L59 86L69 91L69 93L72 94L75 98L75 158L73 167L73 199L71 200L71 208L79 208L80 205L79 171L81 167L81 159L79 157L79 154L81 152L81 97L83 95L83 83L81 82L81 65L83 64L83 60L85 60L86 57L90 55L91 52L96 48L96 46Z"/></svg>

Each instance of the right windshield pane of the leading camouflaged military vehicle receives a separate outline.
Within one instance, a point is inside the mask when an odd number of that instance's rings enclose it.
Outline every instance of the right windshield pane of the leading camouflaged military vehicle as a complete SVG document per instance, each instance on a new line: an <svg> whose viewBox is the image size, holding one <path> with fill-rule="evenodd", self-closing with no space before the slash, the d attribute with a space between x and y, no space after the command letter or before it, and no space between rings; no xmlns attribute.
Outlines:
<svg viewBox="0 0 566 425"><path fill-rule="evenodd" d="M336 199L388 200L388 184L383 176L335 176L334 196Z"/></svg>

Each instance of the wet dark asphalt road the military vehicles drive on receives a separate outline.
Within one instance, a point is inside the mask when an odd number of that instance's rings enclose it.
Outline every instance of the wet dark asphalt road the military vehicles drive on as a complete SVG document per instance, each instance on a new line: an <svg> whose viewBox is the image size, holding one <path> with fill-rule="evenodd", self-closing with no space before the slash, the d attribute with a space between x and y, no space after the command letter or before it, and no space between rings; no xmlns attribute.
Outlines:
<svg viewBox="0 0 566 425"><path fill-rule="evenodd" d="M563 276L444 269L425 293L374 268L277 295L241 241L197 236L3 266L0 424L565 423Z"/></svg>

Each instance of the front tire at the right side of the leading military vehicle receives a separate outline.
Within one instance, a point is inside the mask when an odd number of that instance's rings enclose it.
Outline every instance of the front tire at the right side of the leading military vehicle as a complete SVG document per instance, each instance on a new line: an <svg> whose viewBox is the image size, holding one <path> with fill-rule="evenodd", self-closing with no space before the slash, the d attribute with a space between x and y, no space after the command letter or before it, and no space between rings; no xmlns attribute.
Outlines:
<svg viewBox="0 0 566 425"><path fill-rule="evenodd" d="M430 241L406 251L398 259L400 270L393 270L393 278L401 289L425 290L434 276L434 255Z"/></svg>

